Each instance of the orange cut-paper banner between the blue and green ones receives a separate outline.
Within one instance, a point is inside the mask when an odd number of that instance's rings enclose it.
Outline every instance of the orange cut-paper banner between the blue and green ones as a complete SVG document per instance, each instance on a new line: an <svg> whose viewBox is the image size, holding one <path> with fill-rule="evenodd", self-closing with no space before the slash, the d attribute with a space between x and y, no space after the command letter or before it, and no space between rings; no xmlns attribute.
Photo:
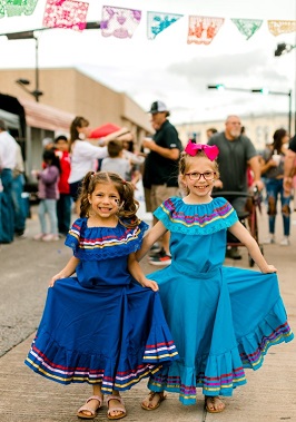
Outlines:
<svg viewBox="0 0 296 422"><path fill-rule="evenodd" d="M209 45L224 23L224 18L189 16L187 43Z"/></svg>

